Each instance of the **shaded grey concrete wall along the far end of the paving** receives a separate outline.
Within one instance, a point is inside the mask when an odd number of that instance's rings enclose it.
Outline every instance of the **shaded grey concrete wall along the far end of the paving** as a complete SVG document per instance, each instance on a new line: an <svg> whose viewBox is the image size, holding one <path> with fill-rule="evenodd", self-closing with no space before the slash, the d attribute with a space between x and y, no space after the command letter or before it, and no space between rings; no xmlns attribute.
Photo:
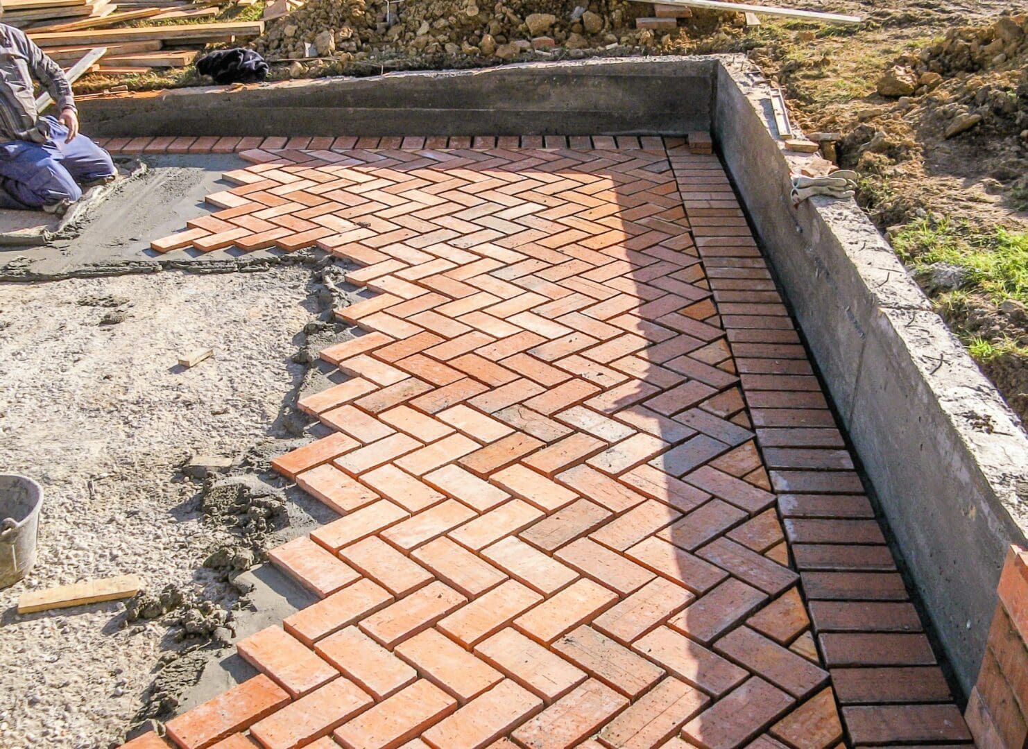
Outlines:
<svg viewBox="0 0 1028 749"><path fill-rule="evenodd" d="M678 135L709 128L715 67L637 59L177 88L83 100L79 114L107 138Z"/></svg>

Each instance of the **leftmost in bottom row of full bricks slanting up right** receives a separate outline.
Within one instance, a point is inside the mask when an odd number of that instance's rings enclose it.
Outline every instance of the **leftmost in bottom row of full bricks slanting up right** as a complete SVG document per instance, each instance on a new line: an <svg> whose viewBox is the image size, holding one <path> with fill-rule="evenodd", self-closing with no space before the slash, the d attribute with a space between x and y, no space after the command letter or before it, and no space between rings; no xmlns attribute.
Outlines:
<svg viewBox="0 0 1028 749"><path fill-rule="evenodd" d="M169 720L168 736L184 749L205 749L289 704L289 695L258 674Z"/></svg>

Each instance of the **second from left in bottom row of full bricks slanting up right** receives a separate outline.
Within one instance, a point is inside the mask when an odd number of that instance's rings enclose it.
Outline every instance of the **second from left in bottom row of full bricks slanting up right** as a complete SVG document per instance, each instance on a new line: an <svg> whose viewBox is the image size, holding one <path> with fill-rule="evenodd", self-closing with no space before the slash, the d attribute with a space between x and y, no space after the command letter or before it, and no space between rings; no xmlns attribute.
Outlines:
<svg viewBox="0 0 1028 749"><path fill-rule="evenodd" d="M296 749L328 736L373 702L352 681L336 679L255 723L250 734L267 749Z"/></svg>

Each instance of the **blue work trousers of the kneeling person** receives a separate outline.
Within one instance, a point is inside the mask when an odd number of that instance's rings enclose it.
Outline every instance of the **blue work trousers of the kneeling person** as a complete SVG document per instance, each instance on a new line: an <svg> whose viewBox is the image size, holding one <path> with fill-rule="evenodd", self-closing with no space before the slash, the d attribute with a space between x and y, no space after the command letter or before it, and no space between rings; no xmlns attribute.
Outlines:
<svg viewBox="0 0 1028 749"><path fill-rule="evenodd" d="M0 143L0 208L40 209L82 197L77 182L115 174L110 154L83 135L65 143L68 128L53 117L46 143Z"/></svg>

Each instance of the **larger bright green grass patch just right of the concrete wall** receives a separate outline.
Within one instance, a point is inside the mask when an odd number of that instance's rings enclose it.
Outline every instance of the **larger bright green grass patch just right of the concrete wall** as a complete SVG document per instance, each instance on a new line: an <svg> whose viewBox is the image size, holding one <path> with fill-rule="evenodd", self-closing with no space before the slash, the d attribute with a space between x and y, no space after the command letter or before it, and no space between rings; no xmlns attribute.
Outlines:
<svg viewBox="0 0 1028 749"><path fill-rule="evenodd" d="M984 293L996 303L1028 303L1028 232L978 231L966 222L928 218L894 234L892 246L915 271L933 263L956 265L968 271L966 290Z"/></svg>

